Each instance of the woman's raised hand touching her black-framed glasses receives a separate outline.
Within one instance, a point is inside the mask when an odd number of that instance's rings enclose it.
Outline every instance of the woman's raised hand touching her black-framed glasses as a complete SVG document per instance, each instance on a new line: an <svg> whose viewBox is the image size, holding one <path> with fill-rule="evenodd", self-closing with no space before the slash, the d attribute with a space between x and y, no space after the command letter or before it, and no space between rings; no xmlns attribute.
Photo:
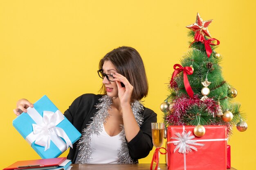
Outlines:
<svg viewBox="0 0 256 170"><path fill-rule="evenodd" d="M133 86L127 80L127 78L119 73L113 74L114 81L117 83L118 89L118 97L121 105L130 105L130 98L132 96ZM124 84L125 87L122 87L121 83Z"/></svg>

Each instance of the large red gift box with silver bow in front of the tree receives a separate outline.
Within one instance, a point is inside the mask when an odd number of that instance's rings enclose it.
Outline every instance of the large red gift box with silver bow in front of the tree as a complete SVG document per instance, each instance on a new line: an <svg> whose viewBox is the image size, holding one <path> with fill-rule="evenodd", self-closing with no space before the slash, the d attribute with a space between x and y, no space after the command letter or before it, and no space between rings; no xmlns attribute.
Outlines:
<svg viewBox="0 0 256 170"><path fill-rule="evenodd" d="M168 170L226 170L226 126L204 126L202 137L194 135L194 128L168 126Z"/></svg>

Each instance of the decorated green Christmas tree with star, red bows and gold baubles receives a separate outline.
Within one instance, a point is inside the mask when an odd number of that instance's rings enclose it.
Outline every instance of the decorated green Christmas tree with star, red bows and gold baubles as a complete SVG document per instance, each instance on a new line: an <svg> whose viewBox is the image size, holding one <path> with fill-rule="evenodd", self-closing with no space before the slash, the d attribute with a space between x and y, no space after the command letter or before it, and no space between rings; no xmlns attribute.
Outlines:
<svg viewBox="0 0 256 170"><path fill-rule="evenodd" d="M186 26L191 31L190 50L180 64L174 65L169 84L170 94L161 104L164 123L168 125L195 125L195 135L203 135L204 125L225 125L230 136L232 126L245 131L247 124L234 102L237 91L222 76L219 65L222 56L215 51L220 41L211 38L208 26L212 20L203 21L197 14L196 22ZM200 131L202 130L202 132ZM195 132L195 129L194 129Z"/></svg>

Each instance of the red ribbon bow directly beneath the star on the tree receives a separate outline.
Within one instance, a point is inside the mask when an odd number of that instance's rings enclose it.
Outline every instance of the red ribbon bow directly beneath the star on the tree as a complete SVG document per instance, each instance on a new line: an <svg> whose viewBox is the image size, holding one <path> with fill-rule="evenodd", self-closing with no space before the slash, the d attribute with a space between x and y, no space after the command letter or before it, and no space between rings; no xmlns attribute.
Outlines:
<svg viewBox="0 0 256 170"><path fill-rule="evenodd" d="M211 46L217 46L220 44L220 41L218 39L215 39L215 38L210 38L210 39L204 39L204 36L200 33L195 33L195 37L194 37L195 41L193 41L191 43L191 45L195 42L198 42L200 41L202 44L204 44L204 47L205 47L205 50L206 50L206 54L208 56L208 58L210 57L211 53L212 53L212 49L211 49ZM212 43L212 41L216 40L217 41L217 44L214 44ZM191 46L190 45L190 46ZM211 45L211 46L210 46ZM189 47L190 47L189 46Z"/></svg>

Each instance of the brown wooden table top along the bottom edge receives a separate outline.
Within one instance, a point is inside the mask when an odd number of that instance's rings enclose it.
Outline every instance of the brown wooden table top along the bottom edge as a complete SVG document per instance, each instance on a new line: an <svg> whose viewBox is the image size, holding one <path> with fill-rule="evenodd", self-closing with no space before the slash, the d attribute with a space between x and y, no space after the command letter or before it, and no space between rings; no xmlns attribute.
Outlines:
<svg viewBox="0 0 256 170"><path fill-rule="evenodd" d="M150 170L150 163L139 164L72 164L71 170ZM153 166L155 168L155 164ZM167 170L165 163L160 163L162 170ZM227 170L236 170L235 168Z"/></svg>

